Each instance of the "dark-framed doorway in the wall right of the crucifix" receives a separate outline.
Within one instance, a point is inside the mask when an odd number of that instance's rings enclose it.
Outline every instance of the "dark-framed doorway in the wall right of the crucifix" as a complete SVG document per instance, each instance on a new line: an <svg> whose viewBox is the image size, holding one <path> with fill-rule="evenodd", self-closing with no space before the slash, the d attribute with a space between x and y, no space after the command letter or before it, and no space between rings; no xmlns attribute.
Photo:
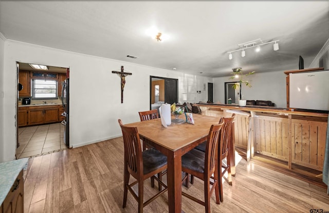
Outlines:
<svg viewBox="0 0 329 213"><path fill-rule="evenodd" d="M150 76L150 110L178 102L178 79Z"/></svg>

